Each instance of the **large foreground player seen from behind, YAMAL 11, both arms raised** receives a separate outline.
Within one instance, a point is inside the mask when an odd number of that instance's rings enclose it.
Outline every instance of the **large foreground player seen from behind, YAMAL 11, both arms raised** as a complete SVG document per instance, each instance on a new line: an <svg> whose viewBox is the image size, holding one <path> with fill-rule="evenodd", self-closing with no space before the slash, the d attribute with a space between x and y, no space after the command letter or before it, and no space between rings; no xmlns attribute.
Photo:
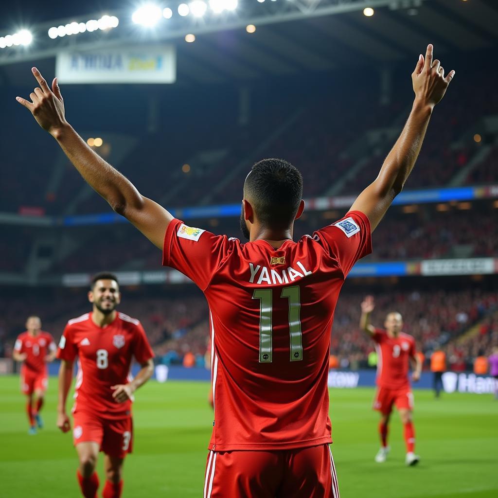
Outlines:
<svg viewBox="0 0 498 498"><path fill-rule="evenodd" d="M338 497L327 389L334 308L408 178L454 71L445 77L432 45L420 55L412 111L378 177L342 220L313 237L292 241L304 209L299 171L279 159L255 164L244 183L247 244L187 227L142 196L67 123L57 80L50 89L33 74L40 87L18 102L112 208L163 249L163 264L207 298L215 420L204 497Z"/></svg>

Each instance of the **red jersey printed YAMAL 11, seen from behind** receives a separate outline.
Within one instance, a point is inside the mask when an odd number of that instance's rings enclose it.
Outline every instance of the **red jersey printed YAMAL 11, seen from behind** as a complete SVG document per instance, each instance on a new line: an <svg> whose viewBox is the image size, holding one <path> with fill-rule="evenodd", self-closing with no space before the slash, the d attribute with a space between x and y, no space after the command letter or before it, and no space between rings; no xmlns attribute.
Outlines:
<svg viewBox="0 0 498 498"><path fill-rule="evenodd" d="M327 378L334 308L345 277L372 250L350 212L279 249L173 220L163 264L203 291L210 309L215 451L331 442Z"/></svg>

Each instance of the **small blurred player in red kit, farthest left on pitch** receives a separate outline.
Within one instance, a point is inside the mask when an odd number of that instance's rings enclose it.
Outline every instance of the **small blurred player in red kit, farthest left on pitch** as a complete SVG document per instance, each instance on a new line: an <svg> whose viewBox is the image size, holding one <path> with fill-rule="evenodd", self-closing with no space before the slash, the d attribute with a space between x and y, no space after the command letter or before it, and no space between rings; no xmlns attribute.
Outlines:
<svg viewBox="0 0 498 498"><path fill-rule="evenodd" d="M47 363L55 358L52 336L41 330L41 320L30 316L26 320L26 332L15 341L12 358L23 362L21 367L21 390L26 395L26 412L29 420L28 434L36 434L36 427L43 427L40 411L48 387Z"/></svg>

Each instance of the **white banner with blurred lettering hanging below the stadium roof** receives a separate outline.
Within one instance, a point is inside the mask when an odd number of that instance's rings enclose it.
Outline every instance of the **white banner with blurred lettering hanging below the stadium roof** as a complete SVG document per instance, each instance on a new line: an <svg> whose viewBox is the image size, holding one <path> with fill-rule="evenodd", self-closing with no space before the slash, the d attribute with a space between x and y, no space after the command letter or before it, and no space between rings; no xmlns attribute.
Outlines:
<svg viewBox="0 0 498 498"><path fill-rule="evenodd" d="M55 74L60 83L174 83L175 47L63 51L57 54Z"/></svg>

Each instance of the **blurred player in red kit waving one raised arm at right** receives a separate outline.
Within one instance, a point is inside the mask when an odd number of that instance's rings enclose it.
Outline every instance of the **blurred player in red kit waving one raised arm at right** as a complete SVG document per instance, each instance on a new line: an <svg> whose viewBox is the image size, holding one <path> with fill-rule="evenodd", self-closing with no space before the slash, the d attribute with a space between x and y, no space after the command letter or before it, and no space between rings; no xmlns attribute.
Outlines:
<svg viewBox="0 0 498 498"><path fill-rule="evenodd" d="M375 456L375 462L383 463L389 453L387 433L393 405L396 406L404 427L406 444L406 465L416 465L420 457L415 455L415 429L412 421L413 393L408 377L409 364L412 364L412 379L420 378L422 364L415 351L415 339L402 332L403 319L399 313L391 312L385 317L385 330L376 329L370 323L370 314L375 307L372 296L362 302L360 327L375 342L377 351L377 392L373 409L380 412L378 430L382 446Z"/></svg>

